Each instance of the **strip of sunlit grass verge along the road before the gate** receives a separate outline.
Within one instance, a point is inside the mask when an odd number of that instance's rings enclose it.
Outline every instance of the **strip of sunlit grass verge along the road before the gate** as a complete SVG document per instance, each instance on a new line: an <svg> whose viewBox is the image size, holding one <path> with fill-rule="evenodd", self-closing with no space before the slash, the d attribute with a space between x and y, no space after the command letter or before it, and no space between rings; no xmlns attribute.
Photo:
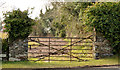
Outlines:
<svg viewBox="0 0 120 70"><path fill-rule="evenodd" d="M56 68L56 67L76 67L86 65L114 65L118 64L117 56L107 57L99 60L90 60L86 62L69 62L69 61L17 61L17 62L3 62L2 68Z"/></svg>

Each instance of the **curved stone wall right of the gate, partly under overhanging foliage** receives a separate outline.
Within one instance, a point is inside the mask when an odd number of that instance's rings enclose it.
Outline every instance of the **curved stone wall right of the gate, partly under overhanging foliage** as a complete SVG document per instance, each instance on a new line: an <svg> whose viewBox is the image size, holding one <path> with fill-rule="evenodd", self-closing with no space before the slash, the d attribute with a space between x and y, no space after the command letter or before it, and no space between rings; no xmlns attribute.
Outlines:
<svg viewBox="0 0 120 70"><path fill-rule="evenodd" d="M96 33L95 52L99 58L113 55L109 41L101 33Z"/></svg>

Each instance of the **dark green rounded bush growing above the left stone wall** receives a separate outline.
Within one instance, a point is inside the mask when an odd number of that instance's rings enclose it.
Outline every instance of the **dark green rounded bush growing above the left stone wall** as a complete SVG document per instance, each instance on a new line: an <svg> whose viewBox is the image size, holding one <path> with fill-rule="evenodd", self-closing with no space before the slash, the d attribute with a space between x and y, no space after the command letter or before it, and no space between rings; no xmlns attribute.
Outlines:
<svg viewBox="0 0 120 70"><path fill-rule="evenodd" d="M35 24L34 20L28 17L28 10L20 11L19 9L7 12L4 22L5 32L9 34L9 40L24 39L32 31L32 26Z"/></svg>

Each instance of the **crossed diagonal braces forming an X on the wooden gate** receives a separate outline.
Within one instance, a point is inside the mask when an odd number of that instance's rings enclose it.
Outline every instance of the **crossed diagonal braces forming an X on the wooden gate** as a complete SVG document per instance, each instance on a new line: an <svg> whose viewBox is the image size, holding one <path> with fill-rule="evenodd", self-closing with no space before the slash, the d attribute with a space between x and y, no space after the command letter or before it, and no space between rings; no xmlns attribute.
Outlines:
<svg viewBox="0 0 120 70"><path fill-rule="evenodd" d="M88 36L87 38L90 38L91 36L92 36L92 35ZM85 39L86 39L86 38L85 38ZM74 42L73 44L67 45L67 47L64 47L64 48L62 48L62 49L56 49L56 48L50 47L51 49L56 50L54 53L51 53L51 52L50 52L50 54L51 54L51 55L55 55L55 54L58 54L59 52L65 53L66 48L68 48L69 46L73 46L74 44L79 43L79 42L81 42L81 41L83 41L83 40L85 40L85 39L82 39L82 40L80 40L80 41ZM33 39L31 39L31 38L30 38L30 40L33 41L33 42L37 42L37 43L39 43L40 45L43 45L43 46L47 46L47 47L48 47L48 45L43 44L43 43L40 43L40 42L38 42L38 41L36 41L36 40L33 40ZM69 54L69 53L66 53L66 54L71 55L71 54ZM43 57L43 56L44 56L44 57ZM39 57L42 57L42 58L39 58L38 60L35 60L35 61L40 61L41 59L44 59L45 57L48 57L48 56L49 56L49 55L39 56ZM74 55L71 55L71 56L72 56L73 58L78 59L79 61L86 61L86 60L80 59L79 57L76 57L76 56L74 56Z"/></svg>

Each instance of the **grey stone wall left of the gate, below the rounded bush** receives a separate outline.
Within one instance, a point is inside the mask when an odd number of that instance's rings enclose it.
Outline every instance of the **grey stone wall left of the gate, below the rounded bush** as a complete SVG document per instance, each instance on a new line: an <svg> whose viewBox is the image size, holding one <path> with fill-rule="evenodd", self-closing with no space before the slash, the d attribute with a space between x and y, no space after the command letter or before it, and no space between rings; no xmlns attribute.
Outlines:
<svg viewBox="0 0 120 70"><path fill-rule="evenodd" d="M9 61L24 61L28 58L28 40L17 40L9 47Z"/></svg>

